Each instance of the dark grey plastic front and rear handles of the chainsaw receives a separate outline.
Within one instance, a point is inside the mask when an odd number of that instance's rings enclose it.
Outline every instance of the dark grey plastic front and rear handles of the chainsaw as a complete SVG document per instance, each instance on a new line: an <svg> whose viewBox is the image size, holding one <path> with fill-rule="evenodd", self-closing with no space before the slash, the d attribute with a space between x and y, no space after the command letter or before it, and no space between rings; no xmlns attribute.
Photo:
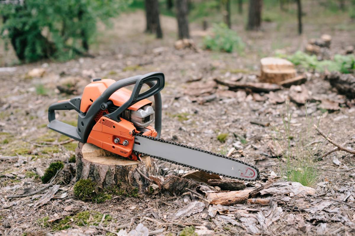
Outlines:
<svg viewBox="0 0 355 236"><path fill-rule="evenodd" d="M147 84L150 88L149 90L141 93L141 88L143 87L143 84ZM129 85L135 85L132 90L131 97L124 104L122 104L121 107L119 107L112 113L106 114L104 116L119 122L119 116L124 110L129 108L131 105L139 102L140 100L154 96L154 128L158 133L157 137L160 137L162 127L162 98L160 96L160 91L164 88L164 84L164 74L161 72L152 72L145 75L133 76L127 79L116 81L114 84L110 85L97 99L95 99L87 113L82 113L80 111L81 97L75 97L70 100L54 103L50 105L48 109L48 128L53 129L54 131L57 131L66 136L69 136L73 139L76 139L82 143L86 143L91 129L95 124L94 118L96 114L100 109L106 108L106 102L108 101L110 96L120 88ZM76 110L79 113L77 127L55 119L55 110L72 109Z"/></svg>

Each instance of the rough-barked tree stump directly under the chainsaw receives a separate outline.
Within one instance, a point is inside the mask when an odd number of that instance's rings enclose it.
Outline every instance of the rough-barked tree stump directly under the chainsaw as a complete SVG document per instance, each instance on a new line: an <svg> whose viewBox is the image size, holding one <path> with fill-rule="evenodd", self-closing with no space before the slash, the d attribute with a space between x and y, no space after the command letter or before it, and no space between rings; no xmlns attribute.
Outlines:
<svg viewBox="0 0 355 236"><path fill-rule="evenodd" d="M92 179L100 188L118 185L120 182L146 190L149 182L144 175L157 175L157 166L149 156L141 156L142 162L132 161L90 143L79 143L76 154L76 181Z"/></svg>

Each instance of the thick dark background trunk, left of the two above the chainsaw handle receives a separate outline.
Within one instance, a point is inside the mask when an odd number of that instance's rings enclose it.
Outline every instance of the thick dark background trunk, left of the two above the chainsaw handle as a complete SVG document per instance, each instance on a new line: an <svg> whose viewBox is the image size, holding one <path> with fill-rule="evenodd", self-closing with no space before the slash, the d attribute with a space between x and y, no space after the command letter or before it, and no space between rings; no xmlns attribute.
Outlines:
<svg viewBox="0 0 355 236"><path fill-rule="evenodd" d="M159 20L159 2L158 0L145 0L147 33L156 33L157 38L163 38L162 28Z"/></svg>

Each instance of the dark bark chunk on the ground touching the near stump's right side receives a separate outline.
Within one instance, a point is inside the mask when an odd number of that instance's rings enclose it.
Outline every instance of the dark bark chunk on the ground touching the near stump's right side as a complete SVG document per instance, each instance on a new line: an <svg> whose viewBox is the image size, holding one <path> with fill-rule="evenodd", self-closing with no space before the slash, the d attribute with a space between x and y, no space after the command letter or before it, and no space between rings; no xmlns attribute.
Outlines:
<svg viewBox="0 0 355 236"><path fill-rule="evenodd" d="M197 186L198 185L195 182L175 175L170 175L163 183L163 187L167 192L177 196L186 192L186 188L195 189Z"/></svg>

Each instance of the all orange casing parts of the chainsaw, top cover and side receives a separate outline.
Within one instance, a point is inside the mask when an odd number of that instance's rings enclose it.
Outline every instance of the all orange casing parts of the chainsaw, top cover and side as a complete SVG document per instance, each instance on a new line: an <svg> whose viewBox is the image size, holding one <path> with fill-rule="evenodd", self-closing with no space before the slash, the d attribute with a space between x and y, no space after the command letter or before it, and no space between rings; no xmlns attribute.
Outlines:
<svg viewBox="0 0 355 236"><path fill-rule="evenodd" d="M80 110L85 113L90 108L91 104L97 99L110 85L112 85L114 80L104 79L100 81L91 82L84 88L84 92L81 99ZM114 92L109 100L117 107L124 104L131 96L131 91L126 88L120 88ZM133 104L128 109L138 110L144 105L151 105L152 102L148 99L140 100L139 102ZM127 157L130 160L137 160L137 156L132 153L134 136L133 132L136 131L136 127L132 122L127 121L123 118L119 122L109 119L103 116L107 114L108 110L100 110L95 117L95 125L89 134L87 139L88 143L92 143L95 146L113 152L123 157ZM157 132L152 126L146 127L148 131L143 134L146 136L157 136ZM115 143L114 140L118 138L120 141ZM128 141L128 145L123 145L124 141Z"/></svg>

